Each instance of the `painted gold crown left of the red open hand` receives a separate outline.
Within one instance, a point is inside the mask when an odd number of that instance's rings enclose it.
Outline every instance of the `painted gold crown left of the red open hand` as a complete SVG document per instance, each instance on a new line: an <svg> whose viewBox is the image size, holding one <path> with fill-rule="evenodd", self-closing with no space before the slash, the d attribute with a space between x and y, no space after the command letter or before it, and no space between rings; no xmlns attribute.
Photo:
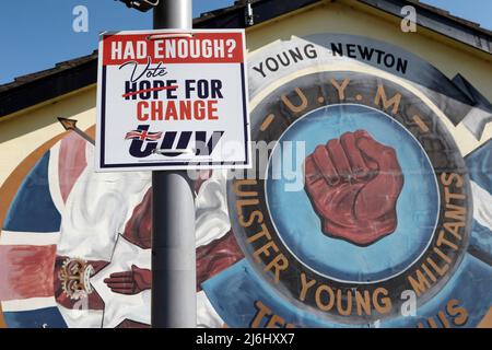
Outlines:
<svg viewBox="0 0 492 350"><path fill-rule="evenodd" d="M61 265L58 278L61 289L71 300L85 298L93 292L90 278L94 268L81 258L67 258Z"/></svg>

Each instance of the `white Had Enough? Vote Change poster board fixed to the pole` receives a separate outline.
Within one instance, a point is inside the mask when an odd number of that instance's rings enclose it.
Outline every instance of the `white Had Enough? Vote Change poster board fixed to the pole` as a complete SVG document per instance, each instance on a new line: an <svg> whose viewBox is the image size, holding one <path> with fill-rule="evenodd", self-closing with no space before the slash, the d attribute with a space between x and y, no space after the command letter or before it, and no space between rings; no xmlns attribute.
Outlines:
<svg viewBox="0 0 492 350"><path fill-rule="evenodd" d="M244 30L103 33L95 168L244 168Z"/></svg>

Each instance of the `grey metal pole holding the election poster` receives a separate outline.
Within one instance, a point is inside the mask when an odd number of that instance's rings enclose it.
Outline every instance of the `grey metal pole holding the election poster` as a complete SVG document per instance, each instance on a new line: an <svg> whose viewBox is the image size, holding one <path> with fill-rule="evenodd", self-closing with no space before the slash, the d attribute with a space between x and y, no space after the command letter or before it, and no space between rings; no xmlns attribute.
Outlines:
<svg viewBox="0 0 492 350"><path fill-rule="evenodd" d="M161 0L154 28L190 30L191 0ZM152 173L153 328L197 325L195 203L185 171Z"/></svg>

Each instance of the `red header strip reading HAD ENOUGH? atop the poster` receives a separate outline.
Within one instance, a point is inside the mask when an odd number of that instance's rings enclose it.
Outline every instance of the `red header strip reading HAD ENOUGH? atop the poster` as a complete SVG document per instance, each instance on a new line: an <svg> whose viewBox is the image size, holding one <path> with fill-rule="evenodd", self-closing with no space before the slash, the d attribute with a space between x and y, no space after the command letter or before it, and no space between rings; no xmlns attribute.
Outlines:
<svg viewBox="0 0 492 350"><path fill-rule="evenodd" d="M241 33L143 33L103 36L103 65L128 61L147 63L241 63Z"/></svg>

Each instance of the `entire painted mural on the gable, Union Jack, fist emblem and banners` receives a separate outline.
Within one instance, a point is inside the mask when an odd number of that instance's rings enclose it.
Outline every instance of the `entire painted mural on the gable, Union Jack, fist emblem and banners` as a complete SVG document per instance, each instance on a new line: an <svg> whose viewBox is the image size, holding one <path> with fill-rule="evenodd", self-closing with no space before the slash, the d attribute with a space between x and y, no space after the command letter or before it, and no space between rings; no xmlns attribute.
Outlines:
<svg viewBox="0 0 492 350"><path fill-rule="evenodd" d="M253 177L195 183L198 325L478 326L492 305L490 103L363 37L294 37L248 66L251 137L272 148ZM47 150L3 220L9 327L150 324L150 173L95 173L87 140ZM274 176L286 163L296 176Z"/></svg>

